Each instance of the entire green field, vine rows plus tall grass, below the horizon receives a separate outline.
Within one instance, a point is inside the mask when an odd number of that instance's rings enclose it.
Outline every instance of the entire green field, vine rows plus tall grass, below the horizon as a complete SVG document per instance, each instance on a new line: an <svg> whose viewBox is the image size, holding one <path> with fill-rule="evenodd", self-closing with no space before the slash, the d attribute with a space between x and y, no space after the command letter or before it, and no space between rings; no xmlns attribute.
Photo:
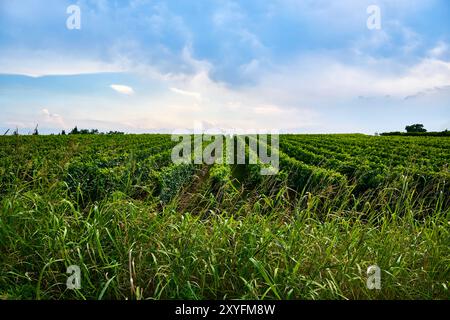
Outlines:
<svg viewBox="0 0 450 320"><path fill-rule="evenodd" d="M273 176L175 145L0 137L0 298L450 298L449 138L282 135Z"/></svg>

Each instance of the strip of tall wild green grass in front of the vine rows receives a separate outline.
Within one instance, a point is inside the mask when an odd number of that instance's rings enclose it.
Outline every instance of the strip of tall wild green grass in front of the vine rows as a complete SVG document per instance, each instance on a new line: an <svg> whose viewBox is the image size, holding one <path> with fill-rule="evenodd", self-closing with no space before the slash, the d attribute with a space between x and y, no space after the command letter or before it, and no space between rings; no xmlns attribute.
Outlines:
<svg viewBox="0 0 450 320"><path fill-rule="evenodd" d="M56 192L56 190L54 191ZM280 191L280 197L284 190ZM447 216L314 213L265 196L236 212L180 214L115 194L79 211L54 194L2 201L0 289L12 299L448 298ZM369 205L368 205L369 207ZM374 219L365 219L373 213ZM66 289L69 265L82 288ZM382 270L382 289L366 270Z"/></svg>

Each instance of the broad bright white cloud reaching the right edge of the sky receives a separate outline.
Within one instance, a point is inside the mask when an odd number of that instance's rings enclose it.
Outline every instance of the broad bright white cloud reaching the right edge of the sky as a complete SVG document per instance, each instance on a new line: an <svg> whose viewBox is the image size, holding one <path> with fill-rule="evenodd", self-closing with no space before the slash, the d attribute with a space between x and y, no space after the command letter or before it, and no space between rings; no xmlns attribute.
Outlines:
<svg viewBox="0 0 450 320"><path fill-rule="evenodd" d="M422 59L412 66L368 58L357 64L331 56L302 56L261 76L250 90L277 105L329 105L357 96L392 96L403 99L450 84L450 62Z"/></svg>

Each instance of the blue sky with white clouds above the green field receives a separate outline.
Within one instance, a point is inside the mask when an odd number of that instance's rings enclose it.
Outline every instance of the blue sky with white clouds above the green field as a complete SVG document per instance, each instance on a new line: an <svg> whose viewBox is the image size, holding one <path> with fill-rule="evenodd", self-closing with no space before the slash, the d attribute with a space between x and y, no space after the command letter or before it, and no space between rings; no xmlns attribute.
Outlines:
<svg viewBox="0 0 450 320"><path fill-rule="evenodd" d="M0 0L0 134L413 123L450 129L448 0Z"/></svg>

